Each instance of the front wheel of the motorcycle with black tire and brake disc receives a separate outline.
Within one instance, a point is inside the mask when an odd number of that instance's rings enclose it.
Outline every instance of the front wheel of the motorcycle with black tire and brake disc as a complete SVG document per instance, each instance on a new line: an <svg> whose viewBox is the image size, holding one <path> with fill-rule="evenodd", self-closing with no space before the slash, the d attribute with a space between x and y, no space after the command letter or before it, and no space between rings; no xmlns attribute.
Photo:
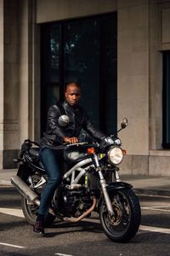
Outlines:
<svg viewBox="0 0 170 256"><path fill-rule="evenodd" d="M132 189L111 191L115 216L110 218L105 203L99 208L99 219L105 235L112 241L126 242L139 230L141 210L138 197Z"/></svg>

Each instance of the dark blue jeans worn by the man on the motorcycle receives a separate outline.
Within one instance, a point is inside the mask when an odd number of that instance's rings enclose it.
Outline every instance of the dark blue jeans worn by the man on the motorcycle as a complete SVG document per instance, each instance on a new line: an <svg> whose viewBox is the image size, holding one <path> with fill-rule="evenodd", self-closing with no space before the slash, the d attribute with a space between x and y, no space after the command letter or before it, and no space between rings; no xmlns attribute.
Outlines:
<svg viewBox="0 0 170 256"><path fill-rule="evenodd" d="M42 191L39 214L47 214L54 196L54 191L62 180L62 170L59 164L59 151L52 148L40 148L39 157L48 174L48 183Z"/></svg>

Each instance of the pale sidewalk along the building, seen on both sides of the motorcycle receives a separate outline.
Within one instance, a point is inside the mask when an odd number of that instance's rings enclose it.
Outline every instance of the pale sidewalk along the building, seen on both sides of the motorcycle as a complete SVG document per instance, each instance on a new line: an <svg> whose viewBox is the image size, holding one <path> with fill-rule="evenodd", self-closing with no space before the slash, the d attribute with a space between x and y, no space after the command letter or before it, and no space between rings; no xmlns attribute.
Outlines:
<svg viewBox="0 0 170 256"><path fill-rule="evenodd" d="M17 169L0 170L0 186L12 186L10 177ZM170 198L170 177L122 175L122 182L133 185L137 195L167 196Z"/></svg>

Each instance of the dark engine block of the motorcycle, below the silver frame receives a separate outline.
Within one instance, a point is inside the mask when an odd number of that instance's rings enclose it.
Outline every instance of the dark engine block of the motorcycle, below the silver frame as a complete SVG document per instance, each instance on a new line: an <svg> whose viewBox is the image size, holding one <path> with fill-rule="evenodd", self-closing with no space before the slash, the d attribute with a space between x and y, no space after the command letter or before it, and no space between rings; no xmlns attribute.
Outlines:
<svg viewBox="0 0 170 256"><path fill-rule="evenodd" d="M77 218L92 206L92 200L86 188L69 189L62 185L54 195L53 205L59 215Z"/></svg>

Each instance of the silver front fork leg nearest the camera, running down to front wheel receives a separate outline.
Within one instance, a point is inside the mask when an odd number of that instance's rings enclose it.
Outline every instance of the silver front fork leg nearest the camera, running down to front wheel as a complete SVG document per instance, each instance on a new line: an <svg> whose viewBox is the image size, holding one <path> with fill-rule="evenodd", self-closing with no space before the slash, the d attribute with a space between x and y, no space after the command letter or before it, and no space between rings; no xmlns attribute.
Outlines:
<svg viewBox="0 0 170 256"><path fill-rule="evenodd" d="M101 167L99 166L99 160L98 160L98 157L96 154L94 154L94 162L95 162L95 165L96 165L96 171L99 173L99 182L101 184L101 189L103 191L103 195L105 197L105 203L106 203L106 206L107 206L107 209L108 209L108 212L109 212L109 215L112 217L114 216L114 212L113 212L113 207L112 207L112 204L111 204L111 199L110 199L110 196L108 194L108 191L106 189L107 187L107 184L105 182L105 178L103 176L103 173L101 171Z"/></svg>

